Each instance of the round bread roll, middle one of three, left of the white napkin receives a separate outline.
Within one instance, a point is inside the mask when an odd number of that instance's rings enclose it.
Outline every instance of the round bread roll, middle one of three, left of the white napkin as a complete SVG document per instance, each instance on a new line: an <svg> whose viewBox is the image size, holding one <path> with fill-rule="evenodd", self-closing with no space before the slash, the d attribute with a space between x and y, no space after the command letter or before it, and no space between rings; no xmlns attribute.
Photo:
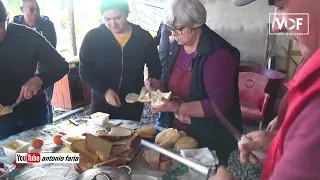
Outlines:
<svg viewBox="0 0 320 180"><path fill-rule="evenodd" d="M180 134L178 130L169 128L163 130L156 136L155 143L158 145L166 145L168 148L172 148L179 138Z"/></svg>

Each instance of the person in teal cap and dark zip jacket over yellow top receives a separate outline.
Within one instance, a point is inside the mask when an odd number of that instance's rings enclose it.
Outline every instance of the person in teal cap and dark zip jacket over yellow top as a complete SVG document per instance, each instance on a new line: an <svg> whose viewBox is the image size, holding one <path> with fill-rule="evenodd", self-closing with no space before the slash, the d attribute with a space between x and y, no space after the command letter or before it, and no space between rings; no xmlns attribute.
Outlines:
<svg viewBox="0 0 320 180"><path fill-rule="evenodd" d="M103 0L104 24L90 30L80 49L80 76L92 88L90 113L105 112L112 119L140 121L143 104L128 104L128 93L140 93L144 66L149 77L161 77L161 65L152 36L127 21L125 0Z"/></svg>

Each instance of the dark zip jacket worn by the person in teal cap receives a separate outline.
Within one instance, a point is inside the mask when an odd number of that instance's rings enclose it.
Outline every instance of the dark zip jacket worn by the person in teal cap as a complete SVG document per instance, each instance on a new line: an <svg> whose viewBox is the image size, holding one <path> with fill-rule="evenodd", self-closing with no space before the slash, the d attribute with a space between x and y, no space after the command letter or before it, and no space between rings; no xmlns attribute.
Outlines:
<svg viewBox="0 0 320 180"><path fill-rule="evenodd" d="M104 25L90 30L80 48L80 77L94 93L96 100L105 101L111 88L121 102L128 93L139 93L144 86L144 65L149 77L161 77L157 47L149 32L132 24L132 34L122 48Z"/></svg>

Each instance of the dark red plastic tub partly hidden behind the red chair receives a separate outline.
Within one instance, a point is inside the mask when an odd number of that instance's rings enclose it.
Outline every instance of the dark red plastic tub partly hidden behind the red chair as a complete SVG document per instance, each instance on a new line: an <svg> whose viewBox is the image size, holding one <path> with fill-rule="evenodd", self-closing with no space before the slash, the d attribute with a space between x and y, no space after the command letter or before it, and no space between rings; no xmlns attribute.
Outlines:
<svg viewBox="0 0 320 180"><path fill-rule="evenodd" d="M278 97L280 87L283 84L283 80L286 78L286 75L281 72L266 69L263 67L253 67L244 65L240 65L239 72L255 72L268 78L268 84L265 89L265 92L270 95L270 99L265 112L264 124L269 123L273 118L274 104Z"/></svg>

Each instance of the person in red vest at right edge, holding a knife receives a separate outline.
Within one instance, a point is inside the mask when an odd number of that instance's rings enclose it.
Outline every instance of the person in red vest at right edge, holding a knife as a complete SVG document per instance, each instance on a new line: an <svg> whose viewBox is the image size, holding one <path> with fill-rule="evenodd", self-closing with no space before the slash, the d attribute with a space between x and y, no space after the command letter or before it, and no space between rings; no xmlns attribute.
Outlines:
<svg viewBox="0 0 320 180"><path fill-rule="evenodd" d="M254 0L233 0L242 6ZM250 152L267 152L262 170L262 180L314 180L320 179L320 2L319 0L269 0L276 6L276 13L284 13L277 18L287 18L288 13L309 13L309 35L295 35L303 57L307 60L286 83L288 106L284 121L278 132L255 131L246 136L251 142L239 145L240 160L246 163L262 162ZM280 31L275 26L273 31ZM298 33L297 29L285 29ZM223 167L210 180L234 179Z"/></svg>

